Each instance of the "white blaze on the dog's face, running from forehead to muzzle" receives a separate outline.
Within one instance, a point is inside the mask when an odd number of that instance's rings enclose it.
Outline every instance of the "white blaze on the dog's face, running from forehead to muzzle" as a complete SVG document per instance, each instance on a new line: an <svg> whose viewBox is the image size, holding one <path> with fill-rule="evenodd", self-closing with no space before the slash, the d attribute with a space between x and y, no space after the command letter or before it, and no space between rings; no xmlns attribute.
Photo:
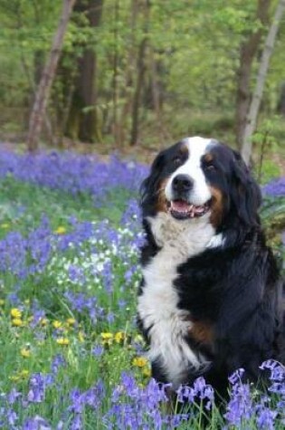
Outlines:
<svg viewBox="0 0 285 430"><path fill-rule="evenodd" d="M172 181L177 175L188 175L193 180L193 189L189 193L189 203L193 205L204 205L211 198L209 186L206 183L204 172L201 167L201 158L208 152L207 148L213 143L211 139L186 138L183 141L188 148L189 156L185 163L178 167L169 178L166 185L166 198L173 200Z"/></svg>

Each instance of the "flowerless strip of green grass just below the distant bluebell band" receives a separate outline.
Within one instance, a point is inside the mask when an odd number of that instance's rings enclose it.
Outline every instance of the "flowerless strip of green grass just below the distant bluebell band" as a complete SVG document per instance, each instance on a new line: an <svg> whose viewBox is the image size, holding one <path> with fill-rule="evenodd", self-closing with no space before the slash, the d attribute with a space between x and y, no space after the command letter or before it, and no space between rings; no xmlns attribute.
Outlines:
<svg viewBox="0 0 285 430"><path fill-rule="evenodd" d="M74 197L61 190L19 182L14 177L6 177L0 182L0 193L3 225L0 238L4 237L6 229L22 233L32 231L40 224L43 215L49 218L54 229L58 225L68 225L71 217L76 217L80 222L106 218L113 225L118 225L131 196L127 190L112 189L104 205L94 207L88 193Z"/></svg>

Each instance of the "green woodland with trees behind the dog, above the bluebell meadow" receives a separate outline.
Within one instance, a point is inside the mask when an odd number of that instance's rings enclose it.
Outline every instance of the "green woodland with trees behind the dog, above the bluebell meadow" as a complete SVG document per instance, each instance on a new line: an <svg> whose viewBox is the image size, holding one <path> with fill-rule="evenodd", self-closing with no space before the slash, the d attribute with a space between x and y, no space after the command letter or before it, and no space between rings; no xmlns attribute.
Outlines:
<svg viewBox="0 0 285 430"><path fill-rule="evenodd" d="M276 0L65 0L73 3L33 144L145 158L201 134L241 147ZM26 142L62 0L0 2L0 139ZM253 161L284 172L285 18L266 77ZM78 145L83 142L86 145ZM93 145L91 145L93 144ZM149 156L149 157L148 157ZM262 164L262 166L261 166Z"/></svg>

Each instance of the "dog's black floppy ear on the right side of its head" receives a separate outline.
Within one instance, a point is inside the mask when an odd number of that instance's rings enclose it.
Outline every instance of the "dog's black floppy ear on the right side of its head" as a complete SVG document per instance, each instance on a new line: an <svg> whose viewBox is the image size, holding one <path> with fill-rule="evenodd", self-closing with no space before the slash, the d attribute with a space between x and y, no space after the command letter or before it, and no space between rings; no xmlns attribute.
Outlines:
<svg viewBox="0 0 285 430"><path fill-rule="evenodd" d="M232 203L244 225L260 224L258 208L261 205L261 190L236 151L233 151Z"/></svg>

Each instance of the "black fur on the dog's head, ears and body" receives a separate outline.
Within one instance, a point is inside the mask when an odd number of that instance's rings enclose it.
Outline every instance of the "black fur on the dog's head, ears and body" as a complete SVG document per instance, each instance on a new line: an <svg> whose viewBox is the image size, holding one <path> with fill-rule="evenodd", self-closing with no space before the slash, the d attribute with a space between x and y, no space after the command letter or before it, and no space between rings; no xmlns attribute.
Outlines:
<svg viewBox="0 0 285 430"><path fill-rule="evenodd" d="M147 244L141 250L143 266L160 250L147 217L157 215L159 185L176 170L177 153L185 157L180 147L178 143L160 153L142 185L147 235ZM208 183L223 194L223 216L216 232L223 234L225 242L178 266L174 287L178 307L189 311L194 321L206 321L213 329L210 345L190 335L186 340L212 361L203 376L225 395L228 377L237 368L244 368L245 377L257 381L262 361L275 358L285 364L284 291L277 263L261 231L259 187L238 153L222 144L215 144L211 153L213 167L207 168L204 160L201 163ZM143 289L144 283L139 293ZM143 330L142 321L139 327ZM148 330L143 332L148 339ZM168 382L158 361L152 363L152 369L157 380ZM186 382L192 383L197 376L189 369Z"/></svg>

